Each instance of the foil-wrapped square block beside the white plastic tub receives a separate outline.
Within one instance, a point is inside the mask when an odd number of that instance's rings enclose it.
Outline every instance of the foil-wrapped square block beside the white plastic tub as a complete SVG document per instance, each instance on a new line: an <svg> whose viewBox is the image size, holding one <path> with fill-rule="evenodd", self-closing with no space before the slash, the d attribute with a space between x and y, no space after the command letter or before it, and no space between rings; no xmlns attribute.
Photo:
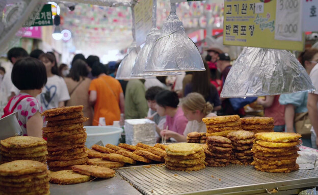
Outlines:
<svg viewBox="0 0 318 195"><path fill-rule="evenodd" d="M125 120L126 144L155 144L155 123L149 119Z"/></svg>

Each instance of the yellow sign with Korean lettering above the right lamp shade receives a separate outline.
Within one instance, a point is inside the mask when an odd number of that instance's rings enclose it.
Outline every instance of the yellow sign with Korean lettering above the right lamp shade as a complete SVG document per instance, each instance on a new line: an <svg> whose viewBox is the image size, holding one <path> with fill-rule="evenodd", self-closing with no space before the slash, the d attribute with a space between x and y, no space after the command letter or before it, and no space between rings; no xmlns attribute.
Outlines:
<svg viewBox="0 0 318 195"><path fill-rule="evenodd" d="M290 36L293 40L299 40L300 36L301 41L275 39L277 1L299 1L300 4L301 0L225 0L223 44L302 51L304 36L299 24L301 20L296 22L299 26L294 36ZM302 12L300 6L296 10L298 14ZM280 24L285 25L283 22ZM278 35L283 36L283 33L285 31L281 30Z"/></svg>

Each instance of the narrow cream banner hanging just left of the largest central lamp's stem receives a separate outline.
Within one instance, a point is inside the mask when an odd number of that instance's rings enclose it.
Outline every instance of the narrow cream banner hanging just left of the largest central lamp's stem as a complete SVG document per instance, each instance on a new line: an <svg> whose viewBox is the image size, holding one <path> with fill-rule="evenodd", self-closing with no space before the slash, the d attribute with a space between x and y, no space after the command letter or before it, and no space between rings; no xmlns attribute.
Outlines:
<svg viewBox="0 0 318 195"><path fill-rule="evenodd" d="M152 0L141 0L134 7L136 21L136 43L138 46L146 42L152 27Z"/></svg>

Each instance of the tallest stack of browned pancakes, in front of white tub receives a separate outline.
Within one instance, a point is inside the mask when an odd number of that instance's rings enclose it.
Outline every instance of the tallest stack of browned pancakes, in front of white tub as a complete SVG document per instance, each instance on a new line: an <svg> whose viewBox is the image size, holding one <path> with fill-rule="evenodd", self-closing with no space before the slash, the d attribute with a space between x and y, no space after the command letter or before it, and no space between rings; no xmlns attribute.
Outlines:
<svg viewBox="0 0 318 195"><path fill-rule="evenodd" d="M70 170L72 165L86 164L86 132L83 123L83 106L52 108L43 112L47 137L47 164L51 171Z"/></svg>

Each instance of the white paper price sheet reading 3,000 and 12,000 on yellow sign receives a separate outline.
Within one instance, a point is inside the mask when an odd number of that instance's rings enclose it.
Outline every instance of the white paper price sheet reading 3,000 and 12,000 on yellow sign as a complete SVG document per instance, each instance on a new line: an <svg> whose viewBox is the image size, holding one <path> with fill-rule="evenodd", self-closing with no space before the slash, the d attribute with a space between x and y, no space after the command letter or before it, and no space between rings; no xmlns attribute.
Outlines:
<svg viewBox="0 0 318 195"><path fill-rule="evenodd" d="M303 0L277 0L275 22L276 40L302 41L302 1Z"/></svg>

